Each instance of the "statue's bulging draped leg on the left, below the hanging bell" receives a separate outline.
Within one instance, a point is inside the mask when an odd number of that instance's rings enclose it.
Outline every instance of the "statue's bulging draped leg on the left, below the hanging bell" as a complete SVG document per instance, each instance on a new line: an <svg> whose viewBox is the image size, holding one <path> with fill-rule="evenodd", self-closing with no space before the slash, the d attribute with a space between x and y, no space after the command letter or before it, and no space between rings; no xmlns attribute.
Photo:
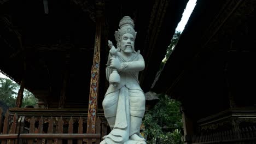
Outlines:
<svg viewBox="0 0 256 144"><path fill-rule="evenodd" d="M109 93L104 97L102 106L104 109L104 115L107 118L110 129L112 130L115 125L115 116L117 115L119 90L113 93Z"/></svg>

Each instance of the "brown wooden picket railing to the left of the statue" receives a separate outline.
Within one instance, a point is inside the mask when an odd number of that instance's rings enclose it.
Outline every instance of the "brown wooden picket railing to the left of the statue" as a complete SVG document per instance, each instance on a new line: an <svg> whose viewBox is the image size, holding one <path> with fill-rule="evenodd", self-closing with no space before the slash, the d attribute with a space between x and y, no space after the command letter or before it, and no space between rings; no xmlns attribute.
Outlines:
<svg viewBox="0 0 256 144"><path fill-rule="evenodd" d="M2 116L2 110L0 109ZM0 116L0 120L2 119ZM28 117L28 116L26 116ZM18 116L17 113L5 113L3 124L0 123L0 143L100 143L101 141L101 119L96 120L96 133L92 134L89 125L89 133L86 132L87 124L84 124L83 117L75 120L69 117L64 122L62 117L34 117L26 119L25 116ZM75 120L75 121L74 121ZM1 121L2 122L2 121ZM25 123L27 122L27 123ZM3 125L3 127L2 127ZM1 128L2 127L2 128Z"/></svg>

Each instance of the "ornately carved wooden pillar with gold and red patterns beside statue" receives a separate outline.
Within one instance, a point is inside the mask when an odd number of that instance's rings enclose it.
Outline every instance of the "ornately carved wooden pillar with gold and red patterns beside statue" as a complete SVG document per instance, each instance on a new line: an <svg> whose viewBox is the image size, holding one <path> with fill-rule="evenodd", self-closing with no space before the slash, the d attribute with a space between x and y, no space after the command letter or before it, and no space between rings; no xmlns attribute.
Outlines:
<svg viewBox="0 0 256 144"><path fill-rule="evenodd" d="M95 133L98 89L99 89L98 85L100 82L100 48L101 48L101 33L102 33L102 23L103 23L103 16L102 16L103 3L98 2L96 3L96 6L97 6L96 34L95 34L95 44L94 44L94 61L91 67L87 133Z"/></svg>

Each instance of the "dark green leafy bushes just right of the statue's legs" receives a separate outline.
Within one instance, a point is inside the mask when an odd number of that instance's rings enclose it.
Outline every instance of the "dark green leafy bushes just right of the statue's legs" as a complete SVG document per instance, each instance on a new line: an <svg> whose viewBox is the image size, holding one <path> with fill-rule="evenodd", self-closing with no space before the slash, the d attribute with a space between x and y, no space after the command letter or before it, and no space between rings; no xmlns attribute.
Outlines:
<svg viewBox="0 0 256 144"><path fill-rule="evenodd" d="M149 110L143 119L143 133L147 136L147 143L182 143L180 105L179 101L160 95L159 103Z"/></svg>

